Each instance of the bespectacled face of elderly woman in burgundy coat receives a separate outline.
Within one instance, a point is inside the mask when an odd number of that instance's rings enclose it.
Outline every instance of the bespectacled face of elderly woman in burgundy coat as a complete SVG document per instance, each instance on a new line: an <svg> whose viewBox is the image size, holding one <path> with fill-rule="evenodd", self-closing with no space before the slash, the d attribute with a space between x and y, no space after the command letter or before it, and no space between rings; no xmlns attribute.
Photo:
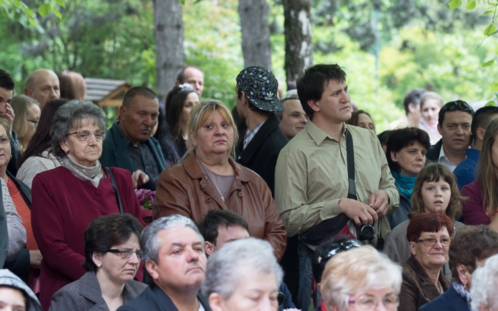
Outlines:
<svg viewBox="0 0 498 311"><path fill-rule="evenodd" d="M66 154L71 155L74 160L85 167L93 167L102 154L102 138L96 138L100 131L98 122L93 119L84 119L80 126L71 129L66 140L60 142L60 146ZM84 134L90 135L86 142Z"/></svg>

